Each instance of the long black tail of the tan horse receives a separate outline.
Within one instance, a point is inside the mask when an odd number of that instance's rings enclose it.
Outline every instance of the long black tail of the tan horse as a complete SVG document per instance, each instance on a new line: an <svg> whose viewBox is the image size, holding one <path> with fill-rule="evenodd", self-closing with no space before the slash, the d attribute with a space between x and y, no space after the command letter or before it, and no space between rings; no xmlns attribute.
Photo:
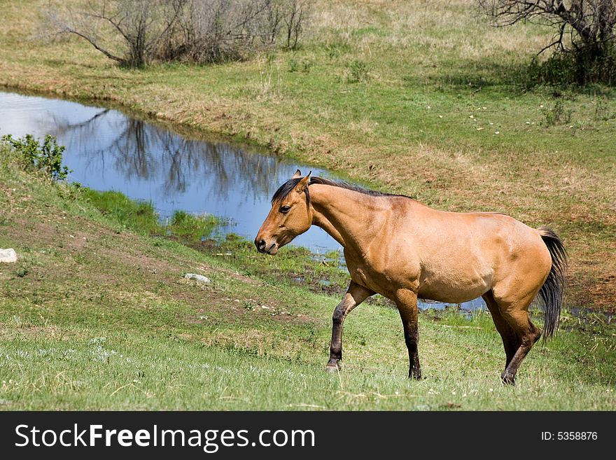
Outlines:
<svg viewBox="0 0 616 460"><path fill-rule="evenodd" d="M567 251L556 233L546 227L538 229L541 238L547 246L549 255L552 256L552 269L549 270L547 279L539 291L545 309L543 310L543 339L552 337L558 328L563 305L563 295L566 286Z"/></svg>

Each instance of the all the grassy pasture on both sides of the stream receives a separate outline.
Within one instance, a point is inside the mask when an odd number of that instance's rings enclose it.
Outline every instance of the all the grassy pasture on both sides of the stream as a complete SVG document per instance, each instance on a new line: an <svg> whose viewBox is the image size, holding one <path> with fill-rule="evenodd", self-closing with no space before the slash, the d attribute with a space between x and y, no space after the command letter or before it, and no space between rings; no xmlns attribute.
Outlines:
<svg viewBox="0 0 616 460"><path fill-rule="evenodd" d="M570 312L616 310L614 91L531 84L548 30L490 28L472 1L316 1L296 51L121 69L82 41L40 41L44 4L0 0L1 86L252 141L437 209L549 225L570 285L561 330L514 387L482 312L421 313L425 378L408 381L382 299L349 315L344 368L325 374L339 273L301 250L152 237L3 151L0 247L21 258L0 265L1 409L614 410L613 321Z"/></svg>

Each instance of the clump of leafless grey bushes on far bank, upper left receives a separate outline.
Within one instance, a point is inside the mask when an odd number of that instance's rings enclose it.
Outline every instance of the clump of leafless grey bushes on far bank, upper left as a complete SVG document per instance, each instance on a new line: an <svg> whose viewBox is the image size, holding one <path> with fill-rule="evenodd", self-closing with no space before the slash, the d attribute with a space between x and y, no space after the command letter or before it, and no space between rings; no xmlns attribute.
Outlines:
<svg viewBox="0 0 616 460"><path fill-rule="evenodd" d="M274 46L295 48L311 0L82 0L48 8L52 34L73 34L120 64L237 60ZM283 29L283 26L286 29Z"/></svg>

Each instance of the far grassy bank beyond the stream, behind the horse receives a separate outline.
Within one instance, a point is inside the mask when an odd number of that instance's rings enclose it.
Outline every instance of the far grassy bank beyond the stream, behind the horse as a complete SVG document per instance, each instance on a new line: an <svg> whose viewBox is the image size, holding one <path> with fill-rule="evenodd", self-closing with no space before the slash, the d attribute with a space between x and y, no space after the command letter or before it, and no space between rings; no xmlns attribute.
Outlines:
<svg viewBox="0 0 616 460"><path fill-rule="evenodd" d="M36 39L44 4L0 1L0 85L113 102L433 207L549 225L570 252L570 305L614 312L614 91L533 87L548 29L493 29L471 0L316 1L295 52L127 70L83 41Z"/></svg>

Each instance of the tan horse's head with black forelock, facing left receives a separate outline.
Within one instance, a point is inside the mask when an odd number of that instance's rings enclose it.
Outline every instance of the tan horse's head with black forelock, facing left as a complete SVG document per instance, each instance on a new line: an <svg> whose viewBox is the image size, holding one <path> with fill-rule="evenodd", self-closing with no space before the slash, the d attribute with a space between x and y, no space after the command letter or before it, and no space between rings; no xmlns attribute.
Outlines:
<svg viewBox="0 0 616 460"><path fill-rule="evenodd" d="M302 178L302 173L297 169L293 178L276 190L272 197L272 209L255 238L259 252L273 256L279 248L310 228L312 211L309 183L310 173Z"/></svg>

